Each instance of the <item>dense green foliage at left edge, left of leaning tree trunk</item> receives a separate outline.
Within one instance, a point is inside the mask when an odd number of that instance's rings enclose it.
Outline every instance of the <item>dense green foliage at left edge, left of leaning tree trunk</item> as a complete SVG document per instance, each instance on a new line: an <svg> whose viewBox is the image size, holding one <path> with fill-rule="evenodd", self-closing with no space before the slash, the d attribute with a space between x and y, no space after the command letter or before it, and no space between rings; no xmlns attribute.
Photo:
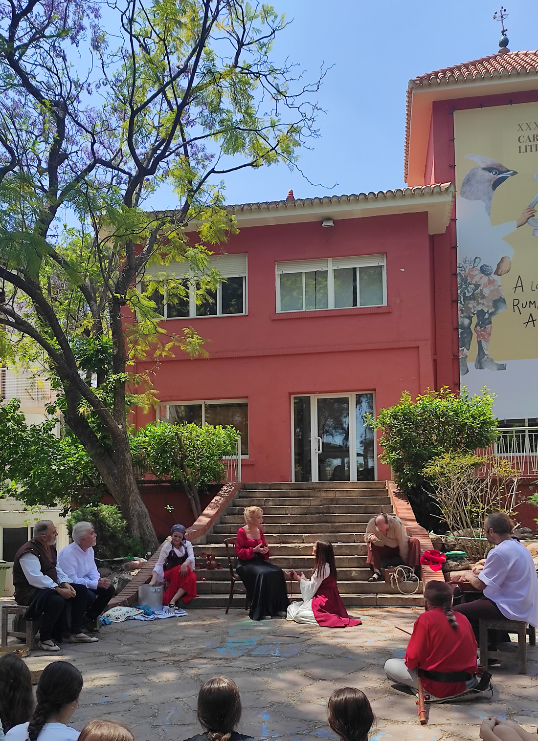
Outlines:
<svg viewBox="0 0 538 741"><path fill-rule="evenodd" d="M0 495L16 496L27 506L70 507L83 486L99 474L76 439L54 433L56 418L27 425L20 402L0 402Z"/></svg>

